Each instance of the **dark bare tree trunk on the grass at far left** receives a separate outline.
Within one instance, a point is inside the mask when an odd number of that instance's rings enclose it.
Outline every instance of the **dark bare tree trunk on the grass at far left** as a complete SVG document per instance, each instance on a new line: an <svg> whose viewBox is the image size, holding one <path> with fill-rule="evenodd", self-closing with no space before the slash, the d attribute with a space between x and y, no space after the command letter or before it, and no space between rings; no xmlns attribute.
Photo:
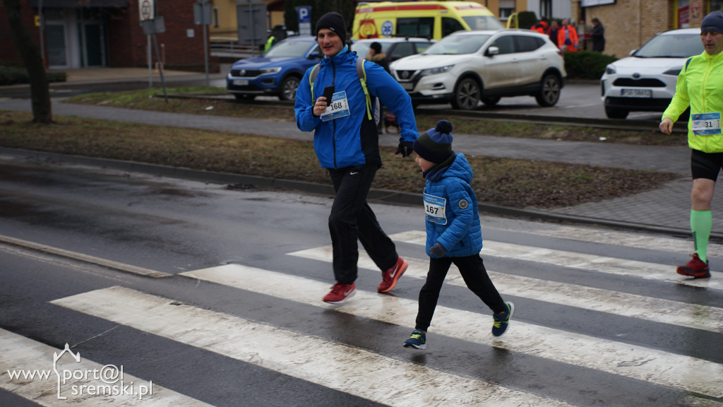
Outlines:
<svg viewBox="0 0 723 407"><path fill-rule="evenodd" d="M25 62L27 76L30 78L30 98L33 103L33 122L51 123L53 113L50 101L50 88L48 87L48 75L43 66L43 58L35 41L30 33L22 25L22 13L20 12L20 0L3 0L7 10L7 20L10 30L17 46L17 50Z"/></svg>

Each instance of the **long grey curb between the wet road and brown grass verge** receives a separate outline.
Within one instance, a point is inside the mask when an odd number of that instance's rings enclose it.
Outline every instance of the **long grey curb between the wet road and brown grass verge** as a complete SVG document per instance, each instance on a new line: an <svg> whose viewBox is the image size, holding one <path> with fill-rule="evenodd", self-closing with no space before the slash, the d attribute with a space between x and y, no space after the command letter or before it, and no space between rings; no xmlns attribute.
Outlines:
<svg viewBox="0 0 723 407"><path fill-rule="evenodd" d="M12 156L15 158L33 159L45 161L51 164L70 164L89 167L100 167L105 169L116 169L124 172L142 172L147 175L161 177L181 178L199 182L227 185L255 185L259 188L299 190L305 193L317 195L334 195L332 185L316 184L314 182L303 182L283 180L278 178L258 177L254 175L239 175L225 172L211 172L199 169L184 167L168 167L158 164L147 164L135 161L122 161L115 159L99 159L86 156L72 156L67 154L46 153L44 151L30 151L17 148L0 148L0 156ZM368 201L384 202L386 204L398 204L408 206L422 206L422 196L419 193L406 193L395 190L370 190ZM578 217L575 215L555 214L552 212L539 211L534 209L513 209L489 204L479 204L480 213L497 215L500 217L526 218L544 220L547 222L569 222L579 225L597 225L612 227L616 229L633 230L638 232L654 232L665 235L690 235L690 230L683 230L677 227L662 227L642 223L619 222L612 219L600 219L593 217ZM711 240L723 240L723 233L711 232Z"/></svg>

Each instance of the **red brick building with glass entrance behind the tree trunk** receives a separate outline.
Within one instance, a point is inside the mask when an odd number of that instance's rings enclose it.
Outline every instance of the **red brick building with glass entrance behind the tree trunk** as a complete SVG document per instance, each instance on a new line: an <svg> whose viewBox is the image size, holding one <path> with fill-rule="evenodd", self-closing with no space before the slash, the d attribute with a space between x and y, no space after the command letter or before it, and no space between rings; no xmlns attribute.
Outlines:
<svg viewBox="0 0 723 407"><path fill-rule="evenodd" d="M140 25L142 0L43 0L43 56L51 69L147 67L147 35ZM155 0L155 16L166 32L157 34L167 69L205 70L202 25L195 25L195 0ZM40 46L38 0L20 0L25 28ZM0 3L0 60L22 64ZM153 47L153 44L151 44ZM153 51L153 48L151 48ZM155 53L153 54L155 62ZM213 60L211 61L213 67ZM212 69L213 70L213 69Z"/></svg>

